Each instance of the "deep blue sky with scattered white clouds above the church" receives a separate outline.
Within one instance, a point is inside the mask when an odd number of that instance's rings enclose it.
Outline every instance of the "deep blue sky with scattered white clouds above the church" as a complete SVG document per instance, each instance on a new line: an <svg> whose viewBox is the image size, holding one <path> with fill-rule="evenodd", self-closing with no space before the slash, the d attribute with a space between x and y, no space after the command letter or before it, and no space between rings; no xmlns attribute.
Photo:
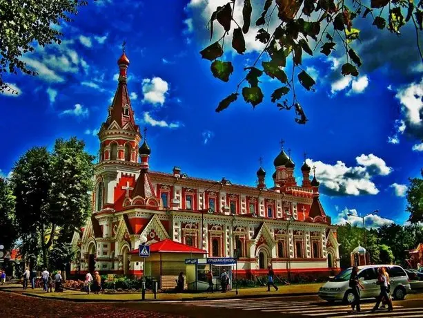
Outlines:
<svg viewBox="0 0 423 318"><path fill-rule="evenodd" d="M239 23L242 2L235 7ZM359 19L362 42L354 44L363 61L359 77L340 74L345 60L341 46L329 57L318 49L313 59L303 55L303 68L317 85L313 93L297 84L309 119L299 125L293 111L279 111L270 103L279 86L265 77L262 104L253 109L239 98L215 113L219 101L235 91L242 68L262 48L254 32L246 37L244 55L227 45L224 59L235 66L230 82L211 75L210 62L201 59L199 50L209 44L207 19L221 3L226 1L106 0L81 8L74 22L59 26L65 34L60 46L38 47L25 55L38 77L5 77L19 95L0 95L0 138L6 150L0 173L7 176L24 151L51 147L56 138L76 135L97 153L96 133L117 87L116 61L125 39L128 88L137 123L148 128L151 169L170 172L178 165L190 176L225 176L255 185L262 156L266 184L272 187L273 159L284 139L299 184L304 151L315 165L322 203L333 221L344 223L347 213L379 209L380 216L369 217L368 225L404 223L408 178L420 176L423 166L423 65L413 28L396 37ZM261 7L253 1L252 21ZM215 23L215 37L220 36L222 28Z"/></svg>

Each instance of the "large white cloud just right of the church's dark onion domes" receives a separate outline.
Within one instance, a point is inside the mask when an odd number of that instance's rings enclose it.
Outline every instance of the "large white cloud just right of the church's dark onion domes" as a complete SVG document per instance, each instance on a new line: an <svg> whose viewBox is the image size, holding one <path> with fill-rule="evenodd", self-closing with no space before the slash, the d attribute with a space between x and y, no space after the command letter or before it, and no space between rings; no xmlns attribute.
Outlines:
<svg viewBox="0 0 423 318"><path fill-rule="evenodd" d="M362 194L378 194L374 176L386 176L391 173L392 168L387 167L383 159L362 154L355 158L357 166L347 167L340 160L335 165L326 164L321 161L307 159L311 167L316 167L316 178L323 186L328 195L334 196L360 196Z"/></svg>

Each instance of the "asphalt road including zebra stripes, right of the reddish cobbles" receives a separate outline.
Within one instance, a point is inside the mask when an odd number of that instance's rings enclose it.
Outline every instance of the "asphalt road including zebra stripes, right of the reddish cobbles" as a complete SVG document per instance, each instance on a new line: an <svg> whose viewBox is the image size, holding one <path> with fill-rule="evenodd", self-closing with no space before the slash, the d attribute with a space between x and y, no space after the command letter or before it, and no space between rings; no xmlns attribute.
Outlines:
<svg viewBox="0 0 423 318"><path fill-rule="evenodd" d="M146 309L193 318L257 318L257 317L423 317L423 294L409 295L404 301L393 301L394 312L386 309L371 312L375 301L363 301L360 314L351 313L351 308L341 303L333 305L321 301L317 296L269 297L266 299L226 299L207 301L160 301L159 303L123 303L132 309Z"/></svg>

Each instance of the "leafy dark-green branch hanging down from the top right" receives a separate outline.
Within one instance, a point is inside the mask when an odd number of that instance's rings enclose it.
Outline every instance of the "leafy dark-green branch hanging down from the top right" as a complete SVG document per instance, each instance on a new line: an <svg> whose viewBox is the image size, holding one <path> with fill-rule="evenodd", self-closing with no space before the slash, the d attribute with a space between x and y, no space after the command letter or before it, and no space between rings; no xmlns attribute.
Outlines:
<svg viewBox="0 0 423 318"><path fill-rule="evenodd" d="M253 7L250 0L244 0L242 9L243 24L235 21L235 1L230 0L225 6L219 6L210 17L210 41L213 39L213 24L215 21L224 28L224 33L213 44L200 51L201 57L211 62L210 71L214 77L228 82L234 71L232 62L223 61L226 35L233 26L232 47L238 54L246 51L244 34L250 30ZM259 1L262 3L263 1ZM255 36L256 41L265 44L264 50L253 64L244 68L246 73L237 84L235 93L228 95L217 106L216 111L223 111L237 100L242 84L242 97L253 107L262 103L264 94L259 87L259 77L266 75L277 79L281 87L277 88L271 97L279 110L295 109L295 122L305 124L308 119L304 109L300 106L295 94L295 81L307 91L315 91L316 84L302 68L303 53L313 55L319 48L320 53L328 56L333 50L345 50L346 63L341 67L342 75L359 75L358 68L362 60L352 47L353 41L359 39L360 30L353 28L355 19L360 16L373 20L375 30L387 28L395 35L400 35L400 29L407 22L412 21L417 32L417 48L423 62L422 51L419 46L419 31L423 30L423 1L417 5L413 0L371 0L370 6L362 0L266 0L262 14L255 21L256 26L262 26ZM386 9L386 10L385 10ZM255 10L260 10L256 8ZM277 15L277 17L275 17ZM386 19L388 21L386 21ZM272 22L270 24L270 22ZM273 28L271 27L273 26ZM269 31L270 28L270 31ZM311 46L314 46L313 50ZM264 57L268 57L264 59ZM220 60L218 58L221 58ZM290 76L286 74L286 61L291 58L293 67ZM246 61L248 63L248 61ZM257 65L259 62L261 64ZM288 102L286 95L291 93L292 102Z"/></svg>

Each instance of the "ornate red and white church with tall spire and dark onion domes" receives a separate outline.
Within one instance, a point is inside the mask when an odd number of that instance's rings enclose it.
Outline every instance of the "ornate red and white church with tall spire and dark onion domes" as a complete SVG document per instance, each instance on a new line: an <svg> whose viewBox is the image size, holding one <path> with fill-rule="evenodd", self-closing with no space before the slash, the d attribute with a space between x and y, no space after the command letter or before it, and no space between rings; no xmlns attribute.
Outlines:
<svg viewBox="0 0 423 318"><path fill-rule="evenodd" d="M154 149L135 122L125 53L117 63L119 84L98 134L92 215L72 239L79 250L72 272L140 275L143 264L131 261L131 252L141 236L146 244L168 239L204 250L208 258L237 256L242 276L264 274L268 263L282 276L339 269L337 227L319 202L319 182L310 180L311 167L304 162L297 185L283 143L271 186L262 167L252 173L257 187L191 177L179 167L150 170Z"/></svg>

